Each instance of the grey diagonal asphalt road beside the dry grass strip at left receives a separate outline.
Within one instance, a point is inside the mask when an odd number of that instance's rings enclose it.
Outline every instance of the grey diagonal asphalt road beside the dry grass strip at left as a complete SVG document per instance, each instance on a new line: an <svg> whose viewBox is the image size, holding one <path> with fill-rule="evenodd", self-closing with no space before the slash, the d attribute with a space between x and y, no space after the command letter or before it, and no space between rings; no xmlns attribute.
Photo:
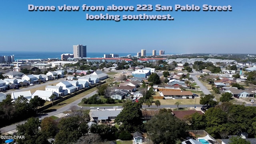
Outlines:
<svg viewBox="0 0 256 144"><path fill-rule="evenodd" d="M96 94L96 93L97 93L97 90L95 90L94 92L91 92L90 94L88 94L88 95L86 95L86 96L83 96L82 98L79 98L78 100L75 100L74 102L72 102L72 103L70 103L70 104L67 104L66 106L63 106L62 108L59 108L59 109L57 109L57 110L55 110L55 111L52 111L52 112L48 112L48 113L45 114L44 116L41 116L40 119L44 119L44 118L46 118L46 117L54 116L54 115L59 114L59 113L61 113L61 112L68 111L71 106L77 106L77 107L78 107L78 104L82 101L83 98L89 98L90 96L92 96L92 95L94 95L94 94ZM78 108L80 108L80 107L78 107ZM113 108L113 107L112 107L112 108ZM15 129L16 129L16 126L17 126L18 124L24 124L25 122L26 122L26 120L25 120L25 121L22 121L22 122L18 122L18 123L16 123L16 124L12 124L12 125L10 125L10 126L3 127L3 128L0 129L0 131L1 131L2 133L4 133L4 132L9 132L9 131L11 131L11 130L15 130Z"/></svg>

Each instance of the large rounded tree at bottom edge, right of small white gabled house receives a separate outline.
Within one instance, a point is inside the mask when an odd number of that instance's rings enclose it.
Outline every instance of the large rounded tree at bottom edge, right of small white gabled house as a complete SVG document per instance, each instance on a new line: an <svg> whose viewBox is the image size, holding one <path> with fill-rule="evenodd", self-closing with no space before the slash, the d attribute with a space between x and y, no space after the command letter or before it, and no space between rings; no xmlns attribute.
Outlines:
<svg viewBox="0 0 256 144"><path fill-rule="evenodd" d="M186 135L186 124L170 112L161 112L145 124L148 137L155 144L175 144Z"/></svg>

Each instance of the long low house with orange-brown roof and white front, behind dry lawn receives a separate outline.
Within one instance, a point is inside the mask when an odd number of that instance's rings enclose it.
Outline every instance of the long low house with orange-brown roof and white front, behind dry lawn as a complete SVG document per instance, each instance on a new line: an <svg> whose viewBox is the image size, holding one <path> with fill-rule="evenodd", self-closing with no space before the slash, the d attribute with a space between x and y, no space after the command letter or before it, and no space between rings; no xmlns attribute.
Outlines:
<svg viewBox="0 0 256 144"><path fill-rule="evenodd" d="M160 96L164 96L165 99L194 98L191 91L163 91L160 92Z"/></svg>

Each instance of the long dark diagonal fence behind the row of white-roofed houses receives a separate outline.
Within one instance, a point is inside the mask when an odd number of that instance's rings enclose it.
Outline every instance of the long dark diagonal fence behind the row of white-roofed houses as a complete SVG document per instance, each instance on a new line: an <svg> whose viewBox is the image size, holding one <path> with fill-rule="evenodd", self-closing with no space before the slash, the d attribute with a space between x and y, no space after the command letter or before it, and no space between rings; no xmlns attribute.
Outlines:
<svg viewBox="0 0 256 144"><path fill-rule="evenodd" d="M66 96L66 97L64 97L64 98L60 97L60 99L58 99L58 100L56 100L56 101L53 102L53 105L59 104L60 102L63 102L64 100L67 100L68 98L72 98L73 96L76 96L77 94L81 94L82 92L85 92L85 91L87 91L87 90L90 90L90 89L92 89L92 88L95 88L96 86L99 86L99 85L104 84L104 83L106 83L106 81L100 82L100 83L95 84L95 85L93 85L93 86L90 86L90 87L88 87L88 88L84 88L84 89L82 89L82 90L79 90L79 91L77 91L77 92L75 92L75 93L73 93L73 94L70 94L70 95L68 95L68 96ZM42 112L43 110L46 110L46 109L48 109L48 108L50 108L50 107L52 107L52 103L51 103L51 104L47 104L46 106L43 106L43 107L41 107L41 108L38 108L38 112Z"/></svg>

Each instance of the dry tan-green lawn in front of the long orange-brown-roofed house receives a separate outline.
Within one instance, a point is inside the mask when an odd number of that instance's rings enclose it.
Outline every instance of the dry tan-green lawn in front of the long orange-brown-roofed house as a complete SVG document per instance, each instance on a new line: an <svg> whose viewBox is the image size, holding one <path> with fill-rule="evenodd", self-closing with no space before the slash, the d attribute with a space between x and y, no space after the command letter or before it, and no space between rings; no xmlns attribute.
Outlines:
<svg viewBox="0 0 256 144"><path fill-rule="evenodd" d="M192 99L154 99L154 101L159 100L161 102L161 105L174 105L175 102L181 102L181 105L186 105L186 104L200 104L200 96L197 96L196 98ZM152 104L152 106L155 105L154 103Z"/></svg>

